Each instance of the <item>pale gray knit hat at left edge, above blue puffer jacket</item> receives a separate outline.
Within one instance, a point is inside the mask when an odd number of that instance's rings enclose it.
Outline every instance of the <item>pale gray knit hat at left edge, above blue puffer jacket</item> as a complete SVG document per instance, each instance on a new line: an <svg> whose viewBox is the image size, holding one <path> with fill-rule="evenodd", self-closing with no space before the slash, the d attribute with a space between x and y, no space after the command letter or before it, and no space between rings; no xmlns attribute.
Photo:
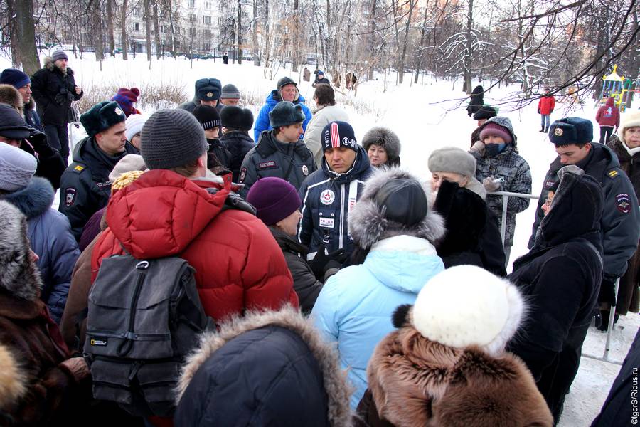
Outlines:
<svg viewBox="0 0 640 427"><path fill-rule="evenodd" d="M29 184L38 162L28 152L0 142L0 189L17 191Z"/></svg>

